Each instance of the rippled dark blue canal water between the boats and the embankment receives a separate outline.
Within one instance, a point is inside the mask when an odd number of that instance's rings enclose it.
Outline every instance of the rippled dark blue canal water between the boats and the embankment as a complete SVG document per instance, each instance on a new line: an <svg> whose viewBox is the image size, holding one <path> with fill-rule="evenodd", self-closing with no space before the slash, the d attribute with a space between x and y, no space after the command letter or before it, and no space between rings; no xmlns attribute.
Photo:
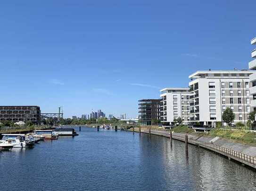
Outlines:
<svg viewBox="0 0 256 191"><path fill-rule="evenodd" d="M78 131L78 129L76 129ZM0 191L256 190L256 172L147 134L82 128L79 136L0 153Z"/></svg>

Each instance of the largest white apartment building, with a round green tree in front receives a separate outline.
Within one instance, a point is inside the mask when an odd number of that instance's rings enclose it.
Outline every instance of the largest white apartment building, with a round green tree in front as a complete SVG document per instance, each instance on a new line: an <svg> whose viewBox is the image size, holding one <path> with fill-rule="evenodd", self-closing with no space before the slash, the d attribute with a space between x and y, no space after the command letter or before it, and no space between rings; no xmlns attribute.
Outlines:
<svg viewBox="0 0 256 191"><path fill-rule="evenodd" d="M234 123L246 123L251 110L251 74L254 71L209 70L191 74L190 121L215 126L215 122L223 122L223 111L230 107L235 113Z"/></svg>

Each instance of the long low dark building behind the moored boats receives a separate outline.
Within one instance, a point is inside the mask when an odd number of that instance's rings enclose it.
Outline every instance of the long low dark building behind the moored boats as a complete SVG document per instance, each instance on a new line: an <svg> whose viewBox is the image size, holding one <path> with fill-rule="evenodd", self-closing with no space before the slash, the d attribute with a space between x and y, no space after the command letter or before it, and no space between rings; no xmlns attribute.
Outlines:
<svg viewBox="0 0 256 191"><path fill-rule="evenodd" d="M0 121L33 122L40 124L38 106L0 106Z"/></svg>

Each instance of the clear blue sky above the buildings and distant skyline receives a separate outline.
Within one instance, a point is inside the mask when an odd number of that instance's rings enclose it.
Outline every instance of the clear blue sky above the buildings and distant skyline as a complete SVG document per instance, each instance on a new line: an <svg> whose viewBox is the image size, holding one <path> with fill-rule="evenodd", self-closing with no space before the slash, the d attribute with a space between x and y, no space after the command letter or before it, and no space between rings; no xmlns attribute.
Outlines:
<svg viewBox="0 0 256 191"><path fill-rule="evenodd" d="M248 69L256 1L0 2L0 105L137 116L203 69Z"/></svg>

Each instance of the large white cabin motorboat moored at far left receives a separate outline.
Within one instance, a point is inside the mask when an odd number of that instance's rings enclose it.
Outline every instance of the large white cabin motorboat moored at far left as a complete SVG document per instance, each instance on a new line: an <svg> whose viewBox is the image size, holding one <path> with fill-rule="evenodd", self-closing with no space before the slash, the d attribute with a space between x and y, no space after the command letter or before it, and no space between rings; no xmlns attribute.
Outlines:
<svg viewBox="0 0 256 191"><path fill-rule="evenodd" d="M13 147L25 147L26 139L24 134L2 134L1 143L10 143Z"/></svg>

